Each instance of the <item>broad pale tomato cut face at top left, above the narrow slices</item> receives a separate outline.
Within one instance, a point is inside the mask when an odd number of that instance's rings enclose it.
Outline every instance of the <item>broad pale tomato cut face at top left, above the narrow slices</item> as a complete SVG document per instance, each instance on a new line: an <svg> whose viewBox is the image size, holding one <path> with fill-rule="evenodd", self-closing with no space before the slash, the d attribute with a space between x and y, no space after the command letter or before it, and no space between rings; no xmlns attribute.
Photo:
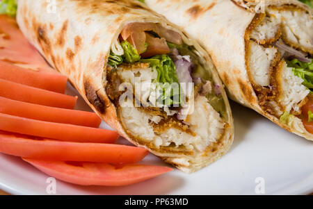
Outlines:
<svg viewBox="0 0 313 209"><path fill-rule="evenodd" d="M0 60L28 65L32 69L55 72L26 40L13 17L0 15Z"/></svg>

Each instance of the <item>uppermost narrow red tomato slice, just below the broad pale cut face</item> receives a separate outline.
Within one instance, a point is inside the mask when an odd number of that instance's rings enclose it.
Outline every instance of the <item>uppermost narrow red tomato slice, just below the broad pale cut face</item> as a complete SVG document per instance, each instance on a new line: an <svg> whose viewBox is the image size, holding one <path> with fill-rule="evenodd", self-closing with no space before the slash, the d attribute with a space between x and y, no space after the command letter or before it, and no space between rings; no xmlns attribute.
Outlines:
<svg viewBox="0 0 313 209"><path fill-rule="evenodd" d="M62 94L67 83L67 77L61 74L34 72L3 61L0 61L0 78Z"/></svg>

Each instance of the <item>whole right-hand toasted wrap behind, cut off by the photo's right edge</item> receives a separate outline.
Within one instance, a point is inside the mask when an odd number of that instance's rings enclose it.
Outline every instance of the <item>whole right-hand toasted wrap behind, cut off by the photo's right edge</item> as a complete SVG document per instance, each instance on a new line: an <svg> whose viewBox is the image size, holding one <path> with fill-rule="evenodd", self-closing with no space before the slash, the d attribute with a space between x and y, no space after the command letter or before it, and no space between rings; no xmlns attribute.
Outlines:
<svg viewBox="0 0 313 209"><path fill-rule="evenodd" d="M289 0L145 3L209 52L231 99L313 140L312 8Z"/></svg>

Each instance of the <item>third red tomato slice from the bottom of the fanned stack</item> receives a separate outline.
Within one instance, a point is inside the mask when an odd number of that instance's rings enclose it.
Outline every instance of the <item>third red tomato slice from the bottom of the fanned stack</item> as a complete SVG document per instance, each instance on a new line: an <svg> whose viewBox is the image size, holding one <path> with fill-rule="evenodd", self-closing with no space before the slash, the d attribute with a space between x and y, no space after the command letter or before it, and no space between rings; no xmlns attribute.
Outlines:
<svg viewBox="0 0 313 209"><path fill-rule="evenodd" d="M114 143L118 133L102 128L42 122L0 113L0 130L67 142Z"/></svg>

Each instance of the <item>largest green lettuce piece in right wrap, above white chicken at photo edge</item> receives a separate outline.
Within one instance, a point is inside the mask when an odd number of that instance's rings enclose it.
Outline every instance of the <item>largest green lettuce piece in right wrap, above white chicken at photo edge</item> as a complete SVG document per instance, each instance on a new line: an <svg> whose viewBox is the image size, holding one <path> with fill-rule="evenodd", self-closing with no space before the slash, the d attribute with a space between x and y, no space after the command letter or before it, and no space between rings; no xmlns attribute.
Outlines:
<svg viewBox="0 0 313 209"><path fill-rule="evenodd" d="M303 79L303 85L308 89L313 89L313 59L310 59L311 62L301 62L298 59L293 59L287 61L287 66L292 67L292 72L295 76L298 76Z"/></svg>

